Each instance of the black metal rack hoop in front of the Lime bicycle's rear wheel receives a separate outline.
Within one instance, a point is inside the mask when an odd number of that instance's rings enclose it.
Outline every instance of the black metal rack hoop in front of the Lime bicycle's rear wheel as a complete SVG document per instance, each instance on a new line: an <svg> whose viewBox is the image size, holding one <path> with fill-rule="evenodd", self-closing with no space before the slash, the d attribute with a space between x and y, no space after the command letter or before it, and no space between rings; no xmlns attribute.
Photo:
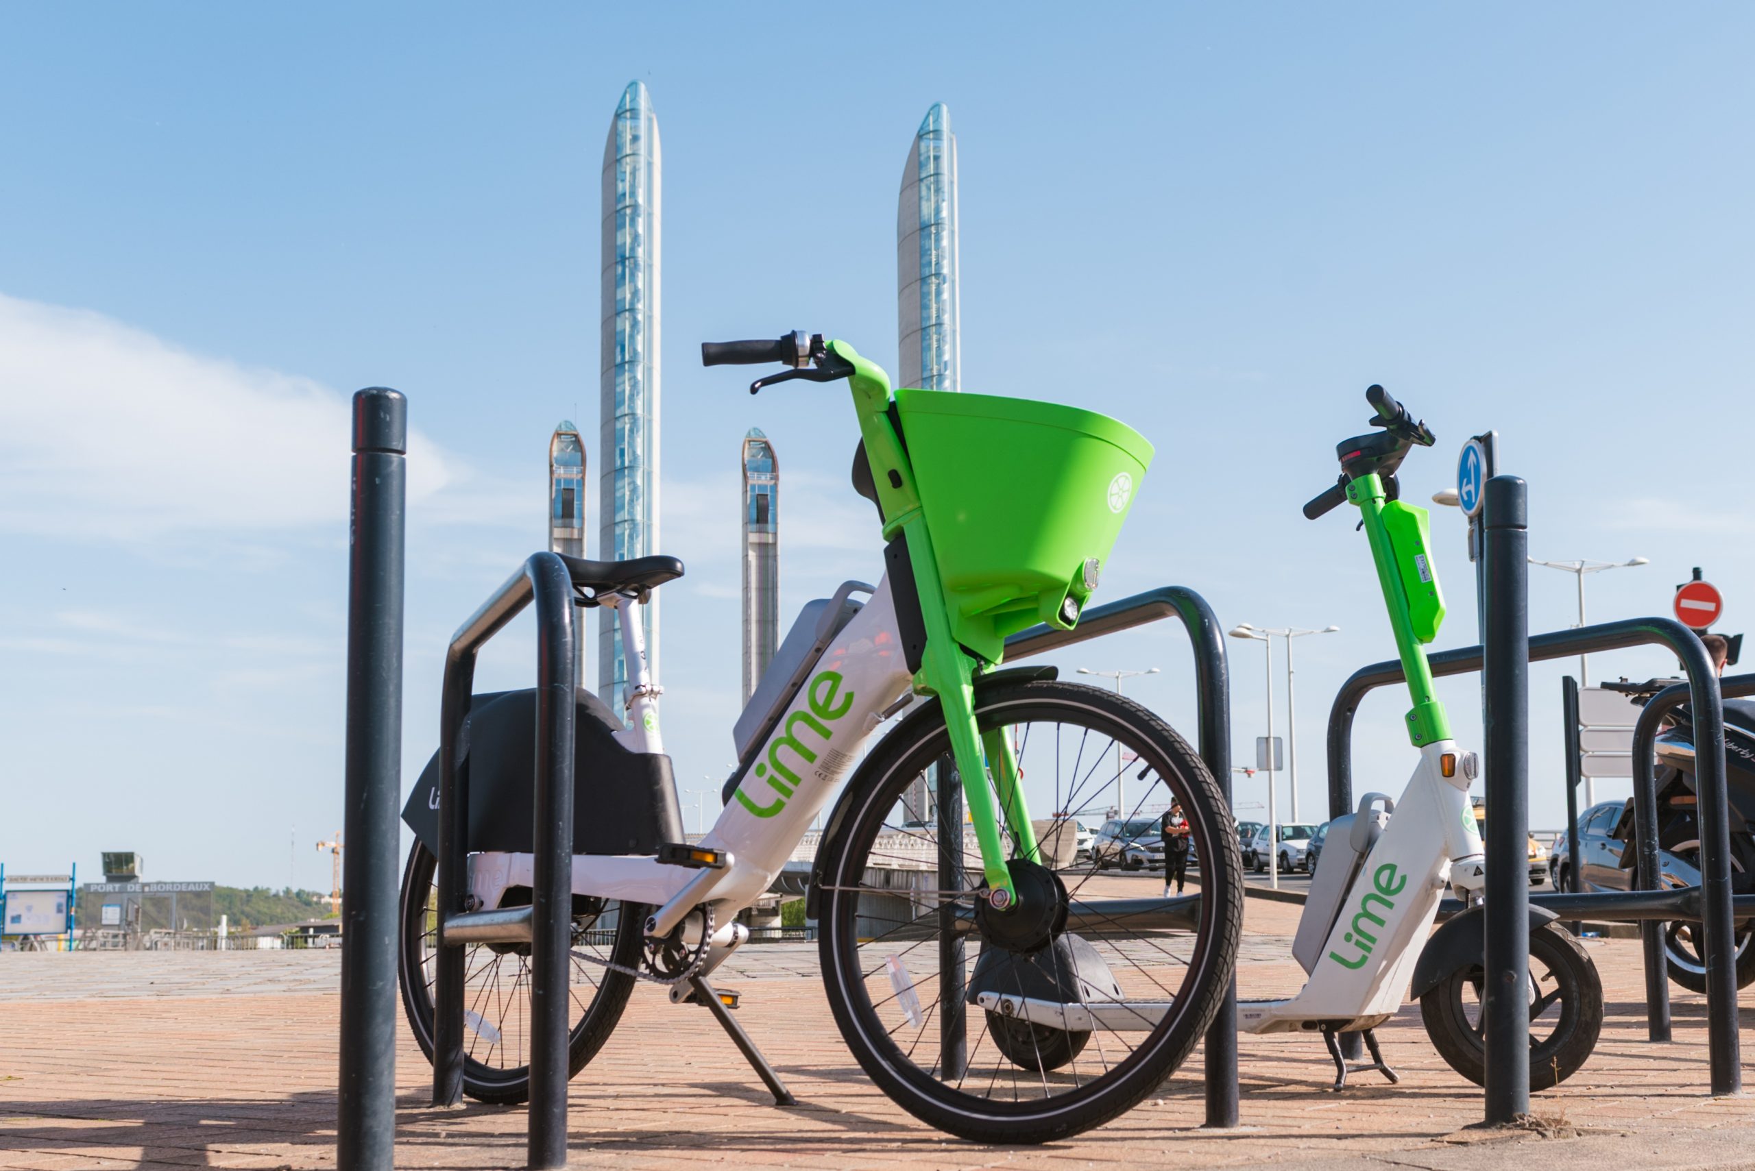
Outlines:
<svg viewBox="0 0 1755 1171"><path fill-rule="evenodd" d="M476 656L525 607L537 612L535 817L532 905L470 912L469 763L458 761ZM574 798L572 577L558 554L532 554L451 636L439 722L439 955L433 987L433 1104L463 1097L463 936L512 934L530 943L530 1167L567 1166L567 1034L572 947ZM395 933L391 933L393 936ZM476 936L483 938L483 936Z"/></svg>

